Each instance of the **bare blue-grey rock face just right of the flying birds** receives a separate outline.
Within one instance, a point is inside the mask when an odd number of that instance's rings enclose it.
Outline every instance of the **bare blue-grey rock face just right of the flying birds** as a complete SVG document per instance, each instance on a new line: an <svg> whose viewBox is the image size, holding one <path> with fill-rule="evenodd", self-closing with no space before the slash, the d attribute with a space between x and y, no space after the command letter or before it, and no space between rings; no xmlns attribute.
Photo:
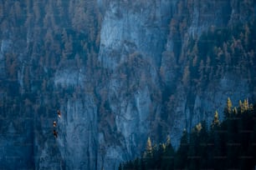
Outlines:
<svg viewBox="0 0 256 170"><path fill-rule="evenodd" d="M71 99L61 106L57 139L65 168L95 169L97 147L97 109L90 97Z"/></svg>

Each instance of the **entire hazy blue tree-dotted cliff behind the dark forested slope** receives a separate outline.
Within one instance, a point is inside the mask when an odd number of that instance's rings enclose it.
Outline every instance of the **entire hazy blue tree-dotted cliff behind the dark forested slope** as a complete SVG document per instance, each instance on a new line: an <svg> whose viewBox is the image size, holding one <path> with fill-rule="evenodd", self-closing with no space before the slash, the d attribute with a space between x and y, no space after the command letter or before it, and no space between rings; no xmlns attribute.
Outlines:
<svg viewBox="0 0 256 170"><path fill-rule="evenodd" d="M116 169L148 136L177 146L228 97L255 100L255 9L253 0L0 2L0 168Z"/></svg>

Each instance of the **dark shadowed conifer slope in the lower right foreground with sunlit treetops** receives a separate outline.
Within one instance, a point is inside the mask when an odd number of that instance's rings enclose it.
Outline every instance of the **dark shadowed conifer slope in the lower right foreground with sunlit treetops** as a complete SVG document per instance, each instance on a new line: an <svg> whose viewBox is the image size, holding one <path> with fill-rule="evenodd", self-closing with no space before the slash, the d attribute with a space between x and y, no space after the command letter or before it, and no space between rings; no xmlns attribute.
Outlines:
<svg viewBox="0 0 256 170"><path fill-rule="evenodd" d="M230 103L230 99L228 99ZM244 106L247 105L247 106ZM229 107L232 107L229 104ZM175 152L170 138L153 147L152 156L120 164L120 169L253 169L256 165L256 105L243 102L244 109L226 108L228 117L211 126L200 122L191 133L184 130ZM215 117L216 118L216 112ZM155 145L156 146L156 145Z"/></svg>

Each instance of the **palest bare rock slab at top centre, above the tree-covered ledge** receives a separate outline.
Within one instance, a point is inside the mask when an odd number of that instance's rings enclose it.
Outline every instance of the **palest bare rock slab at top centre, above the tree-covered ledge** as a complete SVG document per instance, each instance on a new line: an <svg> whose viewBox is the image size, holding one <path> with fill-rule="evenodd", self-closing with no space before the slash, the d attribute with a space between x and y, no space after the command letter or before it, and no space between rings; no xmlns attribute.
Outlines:
<svg viewBox="0 0 256 170"><path fill-rule="evenodd" d="M132 52L141 52L159 67L167 25L172 15L168 1L110 1L100 31L100 62L115 69Z"/></svg>

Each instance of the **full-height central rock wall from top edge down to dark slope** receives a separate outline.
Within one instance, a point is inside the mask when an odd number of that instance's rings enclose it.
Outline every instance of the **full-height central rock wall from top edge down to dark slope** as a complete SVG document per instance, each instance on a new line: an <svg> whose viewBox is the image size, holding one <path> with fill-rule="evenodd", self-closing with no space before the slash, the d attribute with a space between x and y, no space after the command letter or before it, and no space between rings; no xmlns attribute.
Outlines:
<svg viewBox="0 0 256 170"><path fill-rule="evenodd" d="M120 161L140 154L144 147L141 142L151 133L151 117L161 114L161 103L156 101L161 96L158 69L170 9L168 1L111 1L105 9L99 61L113 72L106 82L113 120L109 122L110 132L102 128L104 140L99 143L110 145L103 155L106 169L117 168ZM115 140L107 140L113 133L118 134Z"/></svg>

